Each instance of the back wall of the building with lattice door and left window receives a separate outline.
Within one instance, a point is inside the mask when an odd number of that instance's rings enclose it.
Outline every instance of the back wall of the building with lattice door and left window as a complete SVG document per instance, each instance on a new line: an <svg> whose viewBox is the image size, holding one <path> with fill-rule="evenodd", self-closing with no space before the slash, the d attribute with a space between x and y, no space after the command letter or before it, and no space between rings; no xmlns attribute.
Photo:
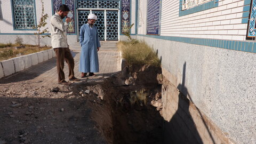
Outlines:
<svg viewBox="0 0 256 144"><path fill-rule="evenodd" d="M45 28L50 28L50 17L58 10L59 5L66 4L71 10L68 17L72 19L68 26L68 43L78 41L79 29L87 23L87 15L91 12L98 16L95 25L98 27L101 41L118 41L125 38L122 33L131 31L135 35L136 1L134 0L43 0L44 13L49 15ZM39 0L0 1L0 42L13 43L17 36L27 44L35 44L37 29L42 14L42 3ZM46 33L47 34L47 33ZM43 38L42 45L51 45L50 38Z"/></svg>

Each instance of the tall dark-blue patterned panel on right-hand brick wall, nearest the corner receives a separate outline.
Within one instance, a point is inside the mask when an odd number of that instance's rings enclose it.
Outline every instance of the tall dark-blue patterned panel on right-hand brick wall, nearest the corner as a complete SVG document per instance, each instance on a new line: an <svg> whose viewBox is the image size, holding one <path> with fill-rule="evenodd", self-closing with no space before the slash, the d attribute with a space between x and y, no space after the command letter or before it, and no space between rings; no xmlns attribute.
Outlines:
<svg viewBox="0 0 256 144"><path fill-rule="evenodd" d="M147 3L147 34L159 34L160 0L148 0Z"/></svg>

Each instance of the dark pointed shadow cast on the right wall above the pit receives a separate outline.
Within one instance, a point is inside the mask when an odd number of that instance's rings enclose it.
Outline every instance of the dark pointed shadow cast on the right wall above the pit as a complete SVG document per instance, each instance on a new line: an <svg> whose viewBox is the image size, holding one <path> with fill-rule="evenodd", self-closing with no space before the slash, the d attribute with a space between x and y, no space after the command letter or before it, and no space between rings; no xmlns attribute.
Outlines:
<svg viewBox="0 0 256 144"><path fill-rule="evenodd" d="M191 102L192 99L188 93L188 90L185 86L185 76L186 76L186 62L183 65L183 78L182 84L179 84L177 89L180 90L178 95L178 109L175 111L175 114L172 116L170 122L164 123L164 133L165 133L165 143L203 143L202 138L199 135L196 124L193 120L193 117L189 111L189 100ZM189 99L186 97L188 95ZM209 133L212 142L215 144L215 141L207 127L203 116L198 108L196 110L199 112L202 121L204 122L204 126ZM168 135L166 135L168 134Z"/></svg>

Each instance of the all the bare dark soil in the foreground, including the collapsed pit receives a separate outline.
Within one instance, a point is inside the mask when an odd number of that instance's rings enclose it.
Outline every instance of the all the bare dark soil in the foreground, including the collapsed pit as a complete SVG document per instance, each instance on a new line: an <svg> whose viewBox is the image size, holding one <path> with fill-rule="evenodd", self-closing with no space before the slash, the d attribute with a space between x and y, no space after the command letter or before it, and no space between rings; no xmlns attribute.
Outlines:
<svg viewBox="0 0 256 144"><path fill-rule="evenodd" d="M163 143L161 68L104 82L0 85L0 143Z"/></svg>

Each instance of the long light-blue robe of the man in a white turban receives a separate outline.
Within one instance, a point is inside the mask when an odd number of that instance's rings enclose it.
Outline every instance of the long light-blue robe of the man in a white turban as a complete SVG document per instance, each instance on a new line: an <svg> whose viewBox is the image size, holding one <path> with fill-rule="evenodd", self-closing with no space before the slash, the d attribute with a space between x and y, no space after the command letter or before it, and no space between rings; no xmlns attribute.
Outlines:
<svg viewBox="0 0 256 144"><path fill-rule="evenodd" d="M81 55L79 71L82 73L99 72L99 59L97 47L100 47L98 30L95 26L90 28L86 23L80 29L79 42L81 45Z"/></svg>

